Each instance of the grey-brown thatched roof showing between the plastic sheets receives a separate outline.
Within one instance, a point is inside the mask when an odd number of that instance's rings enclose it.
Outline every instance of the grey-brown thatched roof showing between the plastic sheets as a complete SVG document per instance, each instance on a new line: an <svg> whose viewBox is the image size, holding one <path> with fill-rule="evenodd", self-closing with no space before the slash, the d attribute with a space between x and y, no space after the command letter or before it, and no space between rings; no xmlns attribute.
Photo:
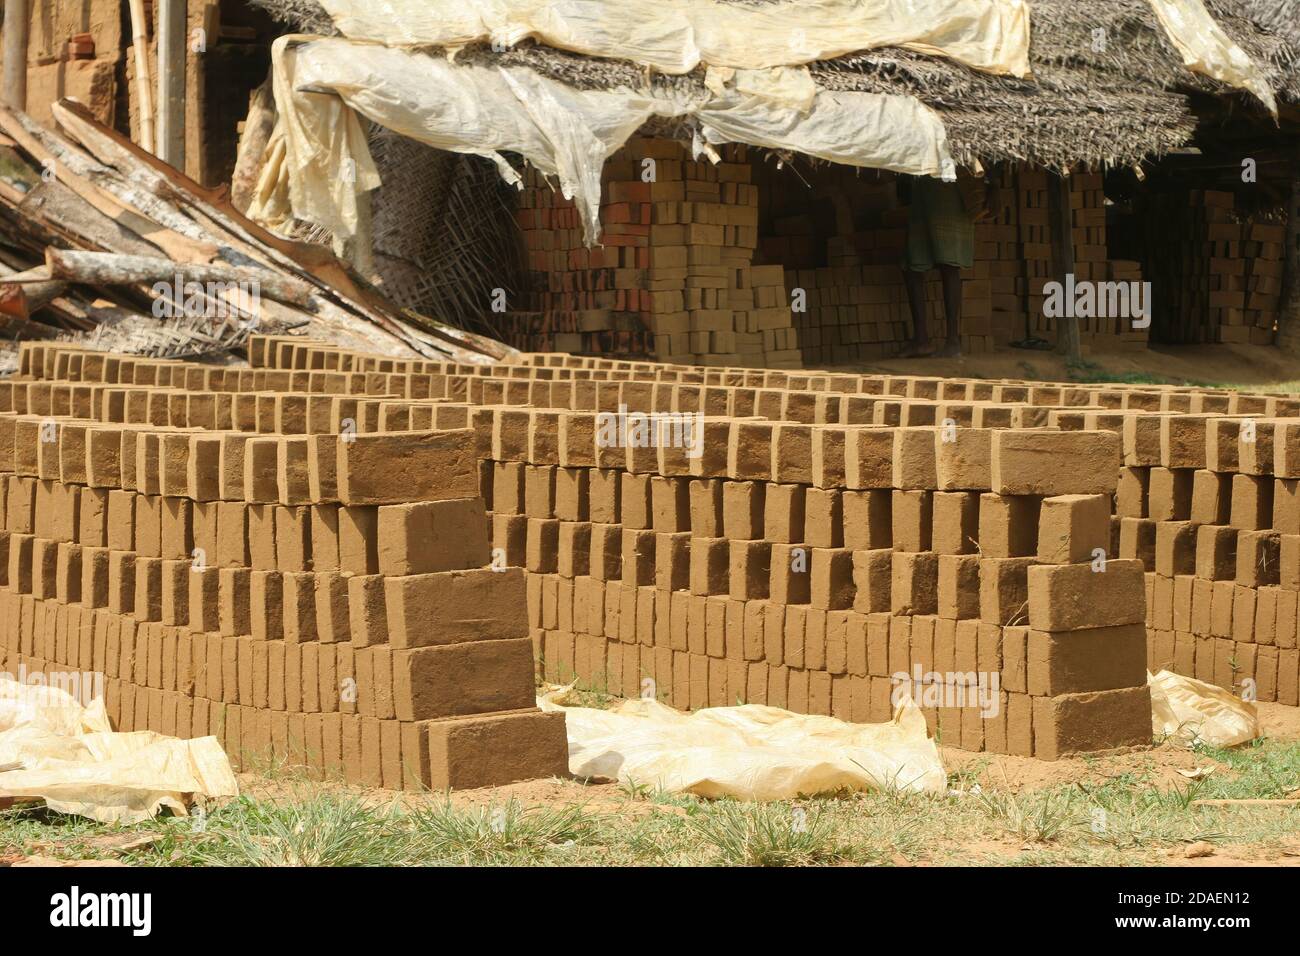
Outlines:
<svg viewBox="0 0 1300 956"><path fill-rule="evenodd" d="M252 1L294 29L337 34L315 0ZM1206 5L1265 72L1279 99L1300 103L1300 0L1206 0ZM1031 0L1030 13L1030 79L996 77L901 48L853 53L810 69L823 88L919 98L942 117L949 148L963 164L975 159L1053 168L1134 164L1192 139L1196 117L1190 98L1197 94L1234 98L1256 111L1261 122L1271 122L1248 94L1190 73L1147 0ZM506 52L480 47L460 56L526 65L582 88L703 83L702 70L647 81L646 72L629 61L526 42Z"/></svg>

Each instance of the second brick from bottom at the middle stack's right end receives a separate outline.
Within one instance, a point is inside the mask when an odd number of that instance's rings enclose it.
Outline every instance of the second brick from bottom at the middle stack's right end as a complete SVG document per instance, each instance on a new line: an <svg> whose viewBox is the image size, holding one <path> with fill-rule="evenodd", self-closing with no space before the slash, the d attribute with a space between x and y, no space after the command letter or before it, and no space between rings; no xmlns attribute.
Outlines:
<svg viewBox="0 0 1300 956"><path fill-rule="evenodd" d="M1028 635L1030 695L1057 697L1147 683L1147 628L1141 624Z"/></svg>

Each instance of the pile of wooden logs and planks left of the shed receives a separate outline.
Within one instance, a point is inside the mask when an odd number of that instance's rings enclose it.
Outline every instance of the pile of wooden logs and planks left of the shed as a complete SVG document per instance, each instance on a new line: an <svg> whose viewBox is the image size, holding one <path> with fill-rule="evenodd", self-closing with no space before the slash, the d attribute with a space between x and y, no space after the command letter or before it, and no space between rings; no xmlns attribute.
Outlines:
<svg viewBox="0 0 1300 956"><path fill-rule="evenodd" d="M0 375L32 338L155 358L225 356L252 332L468 363L512 351L399 310L75 100L53 114L57 130L0 109Z"/></svg>

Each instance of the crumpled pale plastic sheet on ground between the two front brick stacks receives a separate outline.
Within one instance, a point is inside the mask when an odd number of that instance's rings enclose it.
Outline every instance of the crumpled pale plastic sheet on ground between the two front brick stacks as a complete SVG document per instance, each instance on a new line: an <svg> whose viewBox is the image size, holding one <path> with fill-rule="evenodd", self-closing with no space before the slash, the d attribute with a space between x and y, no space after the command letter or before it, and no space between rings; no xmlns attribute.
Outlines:
<svg viewBox="0 0 1300 956"><path fill-rule="evenodd" d="M538 697L563 710L576 777L702 797L789 800L836 790L942 793L946 774L920 709L905 697L888 723L846 723L745 704L682 713L655 700L612 710L564 706L569 687Z"/></svg>

